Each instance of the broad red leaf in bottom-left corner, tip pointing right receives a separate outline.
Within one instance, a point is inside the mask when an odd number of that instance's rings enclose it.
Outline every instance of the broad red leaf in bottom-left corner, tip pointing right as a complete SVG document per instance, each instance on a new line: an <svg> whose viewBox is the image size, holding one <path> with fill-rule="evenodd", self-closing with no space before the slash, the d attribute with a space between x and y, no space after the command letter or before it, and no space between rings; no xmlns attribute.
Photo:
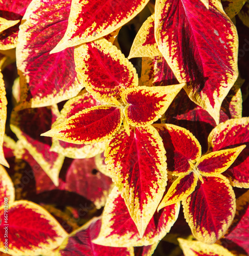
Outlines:
<svg viewBox="0 0 249 256"><path fill-rule="evenodd" d="M0 225L5 230L4 210ZM41 206L29 201L16 201L8 209L8 253L11 255L47 255L67 236L59 223ZM4 251L4 232L0 233L0 250Z"/></svg>

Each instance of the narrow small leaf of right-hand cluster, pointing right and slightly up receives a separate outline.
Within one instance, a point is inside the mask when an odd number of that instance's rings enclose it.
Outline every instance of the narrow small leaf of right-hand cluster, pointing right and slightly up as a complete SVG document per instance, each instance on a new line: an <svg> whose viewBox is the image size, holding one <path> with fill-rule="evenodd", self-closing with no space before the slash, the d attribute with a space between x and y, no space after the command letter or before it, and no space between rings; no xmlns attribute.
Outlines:
<svg viewBox="0 0 249 256"><path fill-rule="evenodd" d="M211 152L202 156L195 164L199 173L204 176L213 176L225 172L236 160L246 145Z"/></svg>

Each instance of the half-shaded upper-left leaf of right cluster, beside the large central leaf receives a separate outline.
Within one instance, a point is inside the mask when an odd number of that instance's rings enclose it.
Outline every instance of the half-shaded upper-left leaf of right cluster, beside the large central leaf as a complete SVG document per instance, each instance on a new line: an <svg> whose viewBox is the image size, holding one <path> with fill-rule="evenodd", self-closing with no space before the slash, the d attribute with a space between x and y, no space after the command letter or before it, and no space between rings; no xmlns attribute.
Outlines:
<svg viewBox="0 0 249 256"><path fill-rule="evenodd" d="M183 175L191 170L189 160L199 159L201 146L188 130L173 124L153 125L163 139L167 168L172 175Z"/></svg>

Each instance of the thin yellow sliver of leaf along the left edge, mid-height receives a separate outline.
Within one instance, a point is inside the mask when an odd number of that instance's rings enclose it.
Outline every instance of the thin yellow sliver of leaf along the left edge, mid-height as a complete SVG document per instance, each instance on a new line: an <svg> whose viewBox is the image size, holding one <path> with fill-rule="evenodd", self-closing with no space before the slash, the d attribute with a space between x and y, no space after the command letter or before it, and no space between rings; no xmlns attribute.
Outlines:
<svg viewBox="0 0 249 256"><path fill-rule="evenodd" d="M4 134L5 134L5 123L7 118L7 98L6 91L4 87L3 74L0 70L0 163L10 167L8 162L4 157L3 143L4 143Z"/></svg>

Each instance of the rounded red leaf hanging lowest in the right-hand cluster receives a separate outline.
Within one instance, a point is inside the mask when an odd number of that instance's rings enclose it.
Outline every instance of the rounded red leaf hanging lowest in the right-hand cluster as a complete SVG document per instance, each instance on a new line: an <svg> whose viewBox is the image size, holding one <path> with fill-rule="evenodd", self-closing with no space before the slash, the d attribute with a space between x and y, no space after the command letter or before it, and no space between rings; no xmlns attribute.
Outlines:
<svg viewBox="0 0 249 256"><path fill-rule="evenodd" d="M227 178L222 175L203 177L195 191L183 200L184 215L193 236L206 244L220 239L231 225L235 195Z"/></svg>

